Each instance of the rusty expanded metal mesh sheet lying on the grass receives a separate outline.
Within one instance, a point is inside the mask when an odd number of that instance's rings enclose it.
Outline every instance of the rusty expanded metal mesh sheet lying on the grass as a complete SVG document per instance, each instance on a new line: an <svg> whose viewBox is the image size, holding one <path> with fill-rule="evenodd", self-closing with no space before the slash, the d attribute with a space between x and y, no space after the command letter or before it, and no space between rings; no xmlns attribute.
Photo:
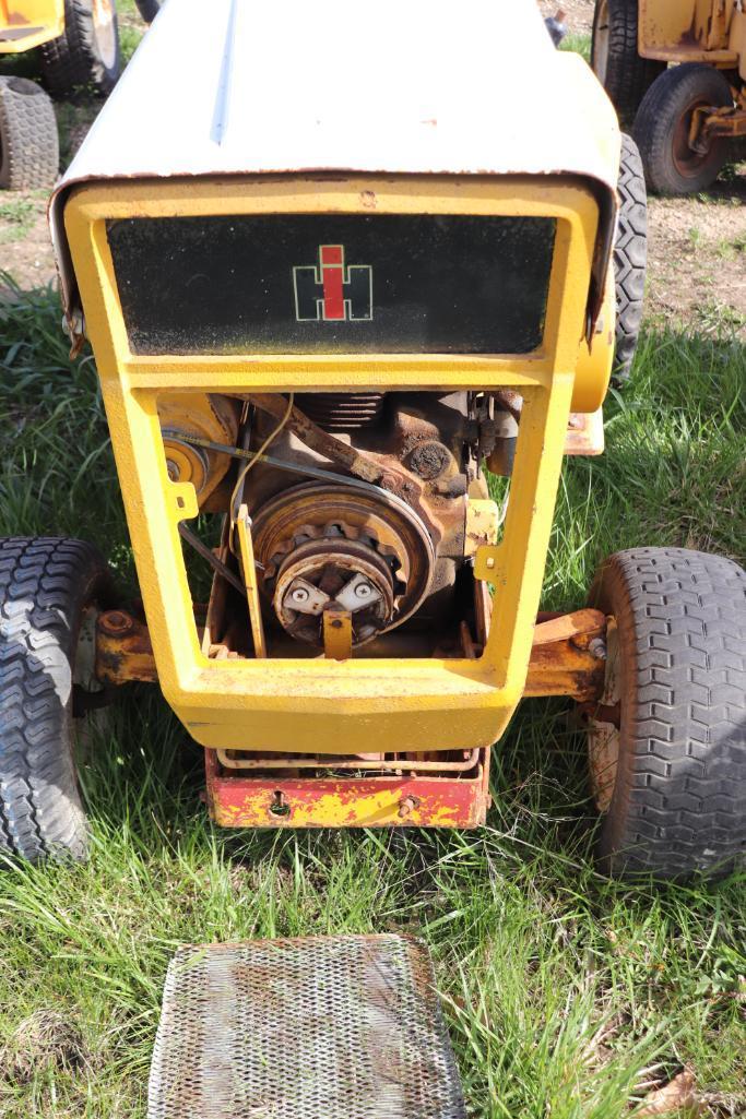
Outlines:
<svg viewBox="0 0 746 1119"><path fill-rule="evenodd" d="M180 948L148 1119L464 1119L425 946L319 937Z"/></svg>

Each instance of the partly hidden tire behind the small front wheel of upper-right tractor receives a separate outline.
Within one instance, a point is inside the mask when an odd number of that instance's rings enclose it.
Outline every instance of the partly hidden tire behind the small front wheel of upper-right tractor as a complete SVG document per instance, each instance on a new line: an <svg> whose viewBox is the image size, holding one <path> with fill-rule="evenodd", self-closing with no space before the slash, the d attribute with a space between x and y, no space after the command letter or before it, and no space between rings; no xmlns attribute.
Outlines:
<svg viewBox="0 0 746 1119"><path fill-rule="evenodd" d="M665 63L637 54L638 0L596 0L590 65L623 124L632 124L641 101Z"/></svg>

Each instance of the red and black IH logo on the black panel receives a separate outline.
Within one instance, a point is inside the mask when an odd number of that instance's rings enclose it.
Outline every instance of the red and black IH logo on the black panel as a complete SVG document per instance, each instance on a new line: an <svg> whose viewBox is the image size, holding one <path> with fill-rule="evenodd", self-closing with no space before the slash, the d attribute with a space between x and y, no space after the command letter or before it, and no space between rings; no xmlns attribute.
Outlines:
<svg viewBox="0 0 746 1119"><path fill-rule="evenodd" d="M344 245L319 245L318 265L292 270L298 322L370 322L373 269L345 264Z"/></svg>

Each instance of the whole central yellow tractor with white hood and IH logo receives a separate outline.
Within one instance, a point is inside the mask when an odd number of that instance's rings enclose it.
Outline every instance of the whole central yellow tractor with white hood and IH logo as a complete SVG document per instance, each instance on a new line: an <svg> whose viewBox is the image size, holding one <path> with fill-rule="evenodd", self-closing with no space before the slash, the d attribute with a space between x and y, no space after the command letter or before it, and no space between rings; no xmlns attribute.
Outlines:
<svg viewBox="0 0 746 1119"><path fill-rule="evenodd" d="M744 573L641 546L540 612L634 344L634 145L532 4L388 16L167 4L55 191L141 602L87 543L0 545L0 844L85 853L75 721L140 680L241 828L479 827L519 702L565 696L606 868L726 869Z"/></svg>

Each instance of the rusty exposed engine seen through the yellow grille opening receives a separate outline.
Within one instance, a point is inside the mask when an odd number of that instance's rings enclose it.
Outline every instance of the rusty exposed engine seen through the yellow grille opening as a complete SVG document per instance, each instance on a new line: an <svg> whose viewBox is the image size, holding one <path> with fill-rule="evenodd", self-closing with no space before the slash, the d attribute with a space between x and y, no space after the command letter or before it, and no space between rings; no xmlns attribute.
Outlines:
<svg viewBox="0 0 746 1119"><path fill-rule="evenodd" d="M165 397L159 414L169 477L223 515L217 562L236 575L234 526L248 514L272 655L321 650L329 613L349 617L352 646L370 655L394 630L430 652L457 633L461 575L495 529L481 462L510 415L492 398L185 395ZM245 606L218 583L206 648L250 655Z"/></svg>

